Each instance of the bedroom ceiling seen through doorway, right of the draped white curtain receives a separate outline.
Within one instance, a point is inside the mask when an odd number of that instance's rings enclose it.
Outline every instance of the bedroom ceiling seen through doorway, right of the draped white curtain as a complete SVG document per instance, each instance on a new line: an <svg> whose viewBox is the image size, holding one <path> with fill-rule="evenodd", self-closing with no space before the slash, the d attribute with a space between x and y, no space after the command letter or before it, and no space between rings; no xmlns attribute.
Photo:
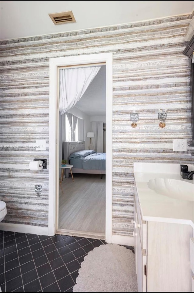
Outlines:
<svg viewBox="0 0 194 293"><path fill-rule="evenodd" d="M75 107L89 116L106 115L106 66L101 67Z"/></svg>

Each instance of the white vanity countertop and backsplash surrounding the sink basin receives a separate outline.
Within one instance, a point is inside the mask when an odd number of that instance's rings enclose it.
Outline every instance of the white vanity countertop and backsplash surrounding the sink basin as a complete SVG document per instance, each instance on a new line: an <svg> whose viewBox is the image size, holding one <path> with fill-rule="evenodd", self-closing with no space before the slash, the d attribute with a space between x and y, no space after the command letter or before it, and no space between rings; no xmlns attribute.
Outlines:
<svg viewBox="0 0 194 293"><path fill-rule="evenodd" d="M194 170L194 165L186 165ZM148 187L151 179L172 178L189 181L194 192L194 179L181 178L180 164L134 163L134 176L143 220L189 224L194 229L194 201L173 199Z"/></svg>

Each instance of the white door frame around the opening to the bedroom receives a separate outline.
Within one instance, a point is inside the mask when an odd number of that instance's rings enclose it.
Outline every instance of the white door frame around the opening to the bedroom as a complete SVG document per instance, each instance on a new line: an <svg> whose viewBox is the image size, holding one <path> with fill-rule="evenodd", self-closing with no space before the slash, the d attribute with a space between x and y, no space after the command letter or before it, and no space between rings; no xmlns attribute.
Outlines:
<svg viewBox="0 0 194 293"><path fill-rule="evenodd" d="M106 63L106 224L105 240L112 243L112 53L49 59L49 225L48 234L58 229L59 200L59 101L58 67Z"/></svg>

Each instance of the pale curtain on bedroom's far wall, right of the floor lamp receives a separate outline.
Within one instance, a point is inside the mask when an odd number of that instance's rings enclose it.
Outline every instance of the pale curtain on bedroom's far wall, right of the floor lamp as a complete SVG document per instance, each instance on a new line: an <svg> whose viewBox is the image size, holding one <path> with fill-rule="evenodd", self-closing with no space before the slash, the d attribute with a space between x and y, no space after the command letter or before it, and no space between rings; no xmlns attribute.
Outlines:
<svg viewBox="0 0 194 293"><path fill-rule="evenodd" d="M103 122L91 122L90 131L94 132L92 143L97 153L103 153Z"/></svg>

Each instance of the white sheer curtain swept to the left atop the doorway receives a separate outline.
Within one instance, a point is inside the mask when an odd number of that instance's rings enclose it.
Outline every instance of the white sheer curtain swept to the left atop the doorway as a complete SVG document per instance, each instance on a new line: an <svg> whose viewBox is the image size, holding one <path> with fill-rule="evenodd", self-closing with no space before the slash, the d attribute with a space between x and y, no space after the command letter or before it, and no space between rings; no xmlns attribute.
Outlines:
<svg viewBox="0 0 194 293"><path fill-rule="evenodd" d="M60 69L59 111L69 111L81 99L101 66Z"/></svg>

